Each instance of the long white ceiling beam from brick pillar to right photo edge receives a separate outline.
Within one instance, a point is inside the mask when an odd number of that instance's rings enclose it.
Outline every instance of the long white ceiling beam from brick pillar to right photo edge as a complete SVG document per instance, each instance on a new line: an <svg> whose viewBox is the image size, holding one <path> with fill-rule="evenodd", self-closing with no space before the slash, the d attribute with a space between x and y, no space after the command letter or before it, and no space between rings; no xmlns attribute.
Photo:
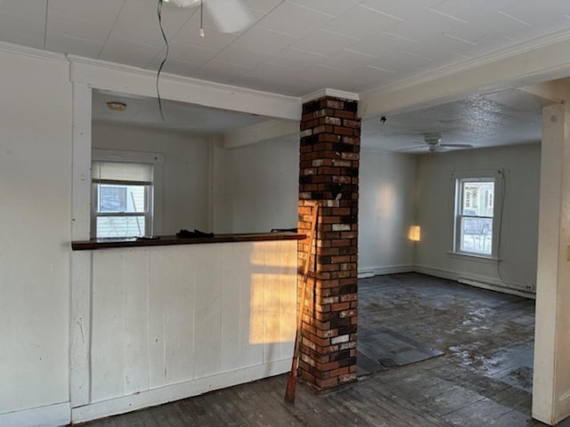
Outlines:
<svg viewBox="0 0 570 427"><path fill-rule="evenodd" d="M361 93L360 117L383 116L458 101L468 95L570 76L570 30L493 52L435 73Z"/></svg>

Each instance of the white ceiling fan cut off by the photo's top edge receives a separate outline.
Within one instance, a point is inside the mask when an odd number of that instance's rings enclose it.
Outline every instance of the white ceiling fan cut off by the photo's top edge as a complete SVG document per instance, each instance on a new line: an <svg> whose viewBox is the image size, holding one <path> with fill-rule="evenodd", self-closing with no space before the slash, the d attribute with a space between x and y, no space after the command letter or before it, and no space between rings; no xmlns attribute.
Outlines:
<svg viewBox="0 0 570 427"><path fill-rule="evenodd" d="M211 15L216 28L223 33L237 33L253 21L242 0L164 0L178 7L203 7ZM200 18L201 19L201 18Z"/></svg>

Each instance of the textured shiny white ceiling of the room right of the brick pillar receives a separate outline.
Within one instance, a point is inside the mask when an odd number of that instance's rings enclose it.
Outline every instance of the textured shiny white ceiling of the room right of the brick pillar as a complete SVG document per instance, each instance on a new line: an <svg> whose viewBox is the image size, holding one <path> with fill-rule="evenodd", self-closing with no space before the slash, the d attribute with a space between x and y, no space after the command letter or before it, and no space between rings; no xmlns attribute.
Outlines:
<svg viewBox="0 0 570 427"><path fill-rule="evenodd" d="M541 141L542 108L552 101L511 89L362 122L362 147L418 154L428 152L427 133L442 144L474 148Z"/></svg>

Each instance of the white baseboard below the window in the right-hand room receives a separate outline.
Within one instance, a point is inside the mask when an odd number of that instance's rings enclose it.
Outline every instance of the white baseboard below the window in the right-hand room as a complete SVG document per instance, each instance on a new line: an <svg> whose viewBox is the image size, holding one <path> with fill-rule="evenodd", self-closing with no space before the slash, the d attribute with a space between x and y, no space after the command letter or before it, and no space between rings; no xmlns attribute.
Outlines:
<svg viewBox="0 0 570 427"><path fill-rule="evenodd" d="M525 298L536 298L536 294L533 289L526 289L524 285L517 283L506 285L496 278L485 278L470 273L464 274L457 271L434 269L424 265L416 265L415 271L421 274L427 274L428 276L435 276L436 278L455 280L456 282L460 282L468 286L502 292L503 294L523 296Z"/></svg>

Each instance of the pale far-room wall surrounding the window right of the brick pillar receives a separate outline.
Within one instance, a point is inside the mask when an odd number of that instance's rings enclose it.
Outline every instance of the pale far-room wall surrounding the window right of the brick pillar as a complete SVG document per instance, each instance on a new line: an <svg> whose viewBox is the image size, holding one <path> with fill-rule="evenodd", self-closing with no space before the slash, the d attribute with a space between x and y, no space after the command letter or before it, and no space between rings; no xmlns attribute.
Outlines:
<svg viewBox="0 0 570 427"><path fill-rule="evenodd" d="M533 291L536 285L540 160L539 144L419 157L417 219L422 233L416 251L417 270ZM497 169L503 171L507 184L501 233L502 261L499 263L501 277L496 262L473 261L449 254L454 215L451 173Z"/></svg>

